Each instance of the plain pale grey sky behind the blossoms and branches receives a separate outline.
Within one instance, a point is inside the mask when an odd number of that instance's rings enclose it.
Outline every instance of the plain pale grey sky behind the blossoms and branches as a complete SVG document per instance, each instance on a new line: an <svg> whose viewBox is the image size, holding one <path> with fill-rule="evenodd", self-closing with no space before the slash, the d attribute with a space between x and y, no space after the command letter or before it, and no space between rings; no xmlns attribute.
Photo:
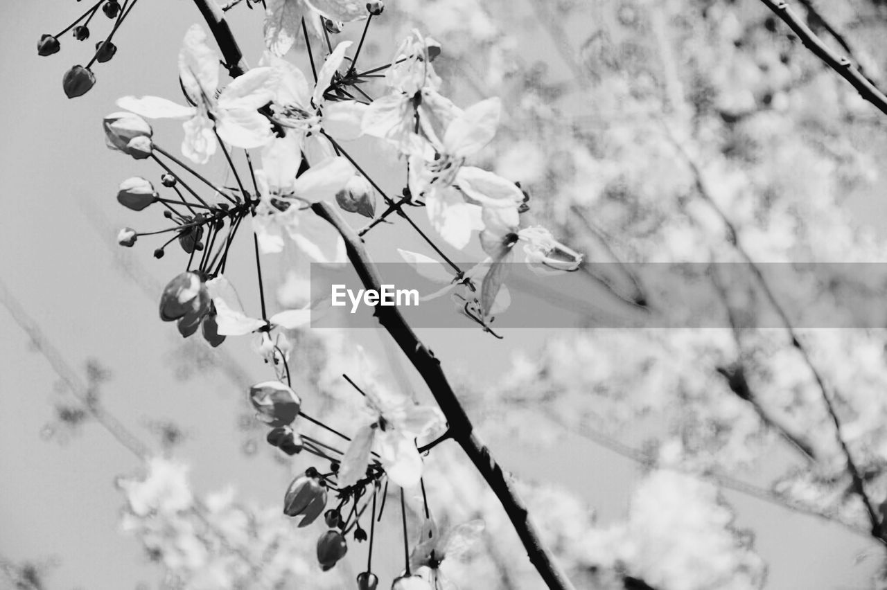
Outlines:
<svg viewBox="0 0 887 590"><path fill-rule="evenodd" d="M116 228L141 222L137 213L117 206L117 184L130 175L156 176L156 170L108 151L101 118L123 95L177 96L178 43L200 15L186 0L138 4L124 24L116 56L98 66L96 87L86 97L68 100L61 91L62 74L88 60L91 42L78 44L65 35L61 52L51 58L38 58L35 42L66 26L83 8L74 0L0 5L0 280L72 367L82 369L94 358L111 371L103 400L131 430L151 439L152 420L184 424L188 439L177 454L192 464L197 489L232 484L247 499L276 503L290 474L263 454L245 458L239 452L242 439L232 435L243 392L232 391L218 377L177 379L171 369L177 333L157 320L156 296L147 296L122 274L118 252L108 247ZM235 29L243 46L252 49L247 59L255 63L260 15L241 11L240 17ZM177 125L156 128L175 149ZM876 213L869 219L884 219L883 210L859 209ZM105 221L97 221L101 216ZM97 223L109 225L97 230ZM154 260L152 249L123 254L137 261L146 282L162 285L184 260L172 255ZM0 556L13 562L55 557L51 588L159 587L160 572L146 563L137 542L119 531L122 496L114 480L136 470L137 460L95 424L65 444L42 436L52 404L64 399L58 378L3 309L0 334ZM355 338L377 336L365 330ZM531 353L551 333L514 330L496 346L479 334L454 338L447 330L422 330L420 336L444 367L483 384L507 370L516 350ZM266 378L251 361L243 363L247 370L256 379ZM579 439L568 438L561 448L545 452L512 440L489 442L506 469L581 493L604 523L624 513L641 477L637 465ZM761 477L734 475L752 482ZM768 588L866 586L875 560L856 560L870 554L867 540L737 493L726 497L738 511L737 524L757 533L757 550L771 564Z"/></svg>

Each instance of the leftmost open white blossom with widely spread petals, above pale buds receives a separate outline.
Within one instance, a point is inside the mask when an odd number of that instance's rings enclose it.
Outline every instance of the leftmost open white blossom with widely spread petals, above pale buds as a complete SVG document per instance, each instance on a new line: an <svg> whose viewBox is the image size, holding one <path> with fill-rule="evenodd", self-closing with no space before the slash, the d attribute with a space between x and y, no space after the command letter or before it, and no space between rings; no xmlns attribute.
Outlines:
<svg viewBox="0 0 887 590"><path fill-rule="evenodd" d="M271 141L271 123L257 109L271 102L279 83L268 67L256 67L226 86L216 97L219 57L207 35L194 25L184 35L178 57L182 88L196 106L177 105L161 97L122 97L117 105L148 119L184 119L182 153L204 164L216 152L216 133L234 147L257 148Z"/></svg>

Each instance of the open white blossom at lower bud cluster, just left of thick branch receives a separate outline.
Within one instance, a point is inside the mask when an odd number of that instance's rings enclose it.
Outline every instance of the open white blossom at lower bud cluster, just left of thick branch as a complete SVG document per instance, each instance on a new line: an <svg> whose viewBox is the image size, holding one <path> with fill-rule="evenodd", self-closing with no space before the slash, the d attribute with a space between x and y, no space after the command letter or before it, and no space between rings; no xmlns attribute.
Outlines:
<svg viewBox="0 0 887 590"><path fill-rule="evenodd" d="M365 402L367 421L357 430L342 457L339 485L355 485L365 476L373 447L391 481L402 487L417 485L422 459L415 439L443 423L440 411L375 386L367 388Z"/></svg>

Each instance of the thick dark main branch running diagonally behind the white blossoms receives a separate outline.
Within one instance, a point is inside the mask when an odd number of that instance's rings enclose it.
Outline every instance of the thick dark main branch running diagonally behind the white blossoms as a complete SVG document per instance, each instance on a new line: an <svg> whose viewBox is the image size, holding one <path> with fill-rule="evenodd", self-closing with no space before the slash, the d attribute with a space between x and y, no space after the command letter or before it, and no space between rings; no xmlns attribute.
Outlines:
<svg viewBox="0 0 887 590"><path fill-rule="evenodd" d="M197 4L200 13L207 19L209 28L216 37L216 43L218 43L225 62L228 64L228 71L233 77L236 77L243 73L243 69L232 67L232 64L240 64L242 54L232 35L231 28L224 22L224 13L211 6L211 2L212 0L194 0L194 4ZM326 203L316 203L311 208L320 217L329 221L341 234L342 239L345 240L349 260L357 270L357 275L360 276L365 287L367 289L381 289L378 270L370 260L363 240L357 236L355 230L341 218L341 215L333 207L326 205ZM396 307L376 306L375 315L382 327L389 331L391 337L395 339L397 345L419 371L425 383L428 384L428 389L435 396L437 404L449 423L452 438L459 443L459 446L475 464L477 470L502 503L508 518L514 524L515 531L521 538L523 547L527 550L530 562L536 567L546 585L553 590L572 590L573 586L569 583L569 579L542 543L536 525L530 520L530 513L514 488L511 478L506 476L493 458L490 449L475 434L473 424L443 374L440 361L420 342Z"/></svg>

